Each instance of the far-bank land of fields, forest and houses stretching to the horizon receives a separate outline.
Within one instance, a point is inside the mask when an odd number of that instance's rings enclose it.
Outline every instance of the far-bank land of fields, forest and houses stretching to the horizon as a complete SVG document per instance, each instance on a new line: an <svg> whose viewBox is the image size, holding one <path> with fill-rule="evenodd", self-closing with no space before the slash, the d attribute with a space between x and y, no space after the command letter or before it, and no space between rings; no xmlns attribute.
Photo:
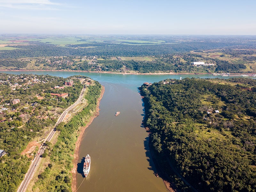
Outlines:
<svg viewBox="0 0 256 192"><path fill-rule="evenodd" d="M242 36L2 35L0 69L254 74L255 39L255 36L248 39ZM21 60L23 63L19 63ZM206 65L192 65L196 61Z"/></svg>

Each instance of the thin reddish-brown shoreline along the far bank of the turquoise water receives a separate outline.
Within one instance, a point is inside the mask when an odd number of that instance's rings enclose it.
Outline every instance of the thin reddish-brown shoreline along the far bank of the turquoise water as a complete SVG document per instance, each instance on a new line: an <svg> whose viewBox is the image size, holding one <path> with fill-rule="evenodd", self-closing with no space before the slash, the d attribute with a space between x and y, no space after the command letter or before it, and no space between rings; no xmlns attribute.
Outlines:
<svg viewBox="0 0 256 192"><path fill-rule="evenodd" d="M113 72L113 71L83 71L83 70L32 70L32 69L0 69L0 71L59 71L59 72L84 72L84 73L109 73L109 74L122 74L122 75L210 75L214 73L175 73L175 72L160 72L160 73L138 73L136 71L130 73L121 73L121 72ZM252 76L256 72L252 73L230 73L229 76L241 76L248 75ZM219 75L221 76L221 75Z"/></svg>

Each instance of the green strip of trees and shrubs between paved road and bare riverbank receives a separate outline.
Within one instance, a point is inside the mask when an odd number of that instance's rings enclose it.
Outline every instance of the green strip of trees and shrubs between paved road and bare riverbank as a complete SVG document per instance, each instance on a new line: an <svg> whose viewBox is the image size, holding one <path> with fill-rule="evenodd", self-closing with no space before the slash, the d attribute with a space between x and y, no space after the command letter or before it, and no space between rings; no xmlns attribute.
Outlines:
<svg viewBox="0 0 256 192"><path fill-rule="evenodd" d="M58 140L55 145L50 145L49 150L45 152L45 156L50 157L50 163L37 176L32 187L33 191L71 191L71 169L77 135L80 128L85 126L90 117L95 114L101 88L101 85L94 81L88 87L84 97L87 105L83 110L78 112L67 124L61 123L57 126L57 131L60 133Z"/></svg>

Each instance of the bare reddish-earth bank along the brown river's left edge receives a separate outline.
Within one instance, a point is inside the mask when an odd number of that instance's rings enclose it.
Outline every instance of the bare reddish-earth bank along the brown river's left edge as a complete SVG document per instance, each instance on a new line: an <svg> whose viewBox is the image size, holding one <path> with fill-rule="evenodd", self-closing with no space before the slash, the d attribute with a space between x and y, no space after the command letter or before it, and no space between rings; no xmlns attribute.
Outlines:
<svg viewBox="0 0 256 192"><path fill-rule="evenodd" d="M71 170L71 173L72 173L71 189L72 189L72 191L76 191L76 169L77 169L77 161L78 161L78 152L79 152L79 147L80 147L83 135L84 135L84 131L92 123L93 119L99 115L100 100L102 99L103 94L105 92L105 87L103 85L101 85L101 86L102 86L102 89L101 89L100 97L98 98L98 101L97 101L95 114L94 114L94 116L92 116L89 119L89 122L86 124L86 126L81 127L81 130L80 130L79 135L78 135L77 140L76 140L76 147L75 147L74 160L73 160L73 168Z"/></svg>

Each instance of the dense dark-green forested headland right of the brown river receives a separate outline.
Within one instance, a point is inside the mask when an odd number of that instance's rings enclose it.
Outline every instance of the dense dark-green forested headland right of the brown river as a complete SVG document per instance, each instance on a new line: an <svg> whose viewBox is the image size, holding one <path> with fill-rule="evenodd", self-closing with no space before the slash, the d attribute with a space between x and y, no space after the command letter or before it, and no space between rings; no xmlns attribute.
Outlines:
<svg viewBox="0 0 256 192"><path fill-rule="evenodd" d="M183 79L143 84L150 146L170 180L190 191L255 191L256 80Z"/></svg>

